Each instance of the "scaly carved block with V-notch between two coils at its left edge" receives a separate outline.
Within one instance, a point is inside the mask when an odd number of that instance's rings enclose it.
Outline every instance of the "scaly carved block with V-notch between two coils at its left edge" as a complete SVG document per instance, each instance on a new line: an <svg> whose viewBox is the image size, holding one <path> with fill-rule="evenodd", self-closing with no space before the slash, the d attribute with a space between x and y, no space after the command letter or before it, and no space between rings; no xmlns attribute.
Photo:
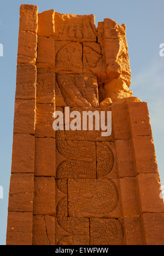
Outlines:
<svg viewBox="0 0 164 256"><path fill-rule="evenodd" d="M56 141L66 161L57 166L56 178L95 178L96 145L93 142Z"/></svg>

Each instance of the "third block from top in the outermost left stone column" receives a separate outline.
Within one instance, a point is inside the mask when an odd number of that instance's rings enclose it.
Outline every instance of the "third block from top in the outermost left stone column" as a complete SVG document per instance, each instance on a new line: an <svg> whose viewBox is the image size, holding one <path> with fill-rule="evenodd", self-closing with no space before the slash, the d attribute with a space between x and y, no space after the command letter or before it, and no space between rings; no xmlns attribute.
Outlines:
<svg viewBox="0 0 164 256"><path fill-rule="evenodd" d="M20 100L35 100L36 84L36 66L31 64L17 65L15 98Z"/></svg>

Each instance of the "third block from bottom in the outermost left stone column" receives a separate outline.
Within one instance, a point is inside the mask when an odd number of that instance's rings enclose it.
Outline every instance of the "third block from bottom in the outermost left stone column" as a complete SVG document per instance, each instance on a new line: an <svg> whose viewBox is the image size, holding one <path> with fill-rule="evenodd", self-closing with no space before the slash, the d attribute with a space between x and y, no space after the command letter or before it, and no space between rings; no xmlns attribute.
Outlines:
<svg viewBox="0 0 164 256"><path fill-rule="evenodd" d="M14 134L11 173L34 173L34 141L32 135Z"/></svg>

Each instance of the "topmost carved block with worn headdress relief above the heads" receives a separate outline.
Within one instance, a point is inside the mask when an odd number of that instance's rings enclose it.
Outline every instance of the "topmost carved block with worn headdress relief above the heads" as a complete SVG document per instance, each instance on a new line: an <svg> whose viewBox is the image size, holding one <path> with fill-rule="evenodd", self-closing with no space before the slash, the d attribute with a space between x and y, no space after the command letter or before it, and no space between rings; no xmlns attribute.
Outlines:
<svg viewBox="0 0 164 256"><path fill-rule="evenodd" d="M96 42L95 16L55 12L54 38L57 41Z"/></svg>

